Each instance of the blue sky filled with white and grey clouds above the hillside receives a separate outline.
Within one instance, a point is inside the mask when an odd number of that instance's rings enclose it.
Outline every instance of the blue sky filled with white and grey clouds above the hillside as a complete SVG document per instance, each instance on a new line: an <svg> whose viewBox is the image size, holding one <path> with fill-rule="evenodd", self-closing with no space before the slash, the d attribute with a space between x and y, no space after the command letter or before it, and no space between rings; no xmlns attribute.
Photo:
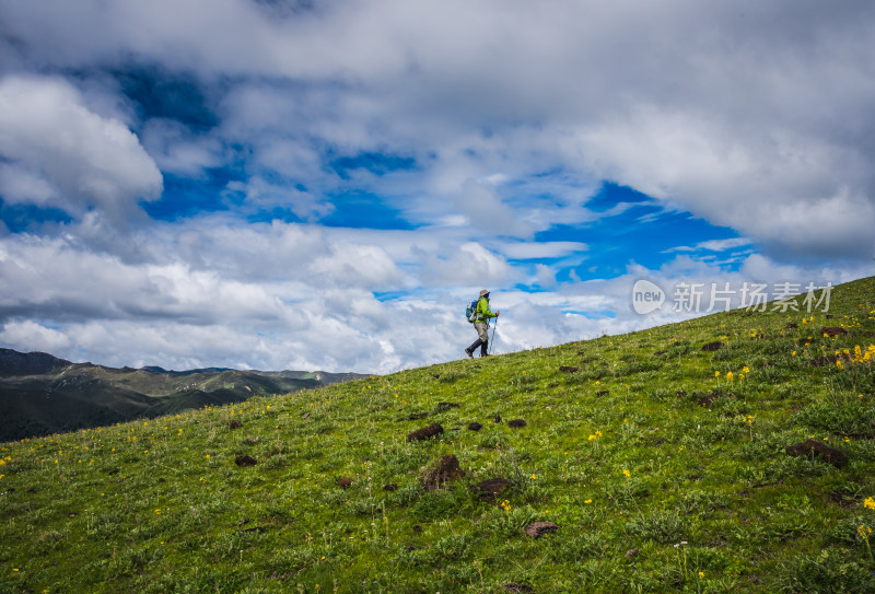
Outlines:
<svg viewBox="0 0 875 594"><path fill-rule="evenodd" d="M870 2L0 10L0 347L385 373L483 288L506 352L873 273Z"/></svg>

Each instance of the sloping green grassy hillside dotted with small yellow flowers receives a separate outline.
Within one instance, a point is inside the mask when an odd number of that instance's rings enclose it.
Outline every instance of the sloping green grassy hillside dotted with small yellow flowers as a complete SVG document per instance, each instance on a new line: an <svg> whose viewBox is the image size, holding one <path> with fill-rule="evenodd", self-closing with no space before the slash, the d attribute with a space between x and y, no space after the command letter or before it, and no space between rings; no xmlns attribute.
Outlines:
<svg viewBox="0 0 875 594"><path fill-rule="evenodd" d="M4 444L0 592L875 592L873 295Z"/></svg>

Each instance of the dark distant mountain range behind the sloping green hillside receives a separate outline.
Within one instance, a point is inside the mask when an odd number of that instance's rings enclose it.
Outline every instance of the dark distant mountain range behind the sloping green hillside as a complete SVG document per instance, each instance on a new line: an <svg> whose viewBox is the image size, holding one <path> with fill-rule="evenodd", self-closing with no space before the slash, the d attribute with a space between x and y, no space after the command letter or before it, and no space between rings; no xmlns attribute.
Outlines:
<svg viewBox="0 0 875 594"><path fill-rule="evenodd" d="M167 371L0 349L0 442L171 415L369 377L323 371Z"/></svg>

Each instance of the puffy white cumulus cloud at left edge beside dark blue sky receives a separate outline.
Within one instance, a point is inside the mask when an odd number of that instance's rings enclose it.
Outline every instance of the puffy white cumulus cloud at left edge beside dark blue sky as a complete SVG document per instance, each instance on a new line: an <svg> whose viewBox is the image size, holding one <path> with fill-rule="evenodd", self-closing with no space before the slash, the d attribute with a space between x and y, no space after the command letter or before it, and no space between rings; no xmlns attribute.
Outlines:
<svg viewBox="0 0 875 594"><path fill-rule="evenodd" d="M155 199L162 176L124 124L91 112L59 79L0 80L0 155L16 201L81 216L100 207L122 220L137 200Z"/></svg>

